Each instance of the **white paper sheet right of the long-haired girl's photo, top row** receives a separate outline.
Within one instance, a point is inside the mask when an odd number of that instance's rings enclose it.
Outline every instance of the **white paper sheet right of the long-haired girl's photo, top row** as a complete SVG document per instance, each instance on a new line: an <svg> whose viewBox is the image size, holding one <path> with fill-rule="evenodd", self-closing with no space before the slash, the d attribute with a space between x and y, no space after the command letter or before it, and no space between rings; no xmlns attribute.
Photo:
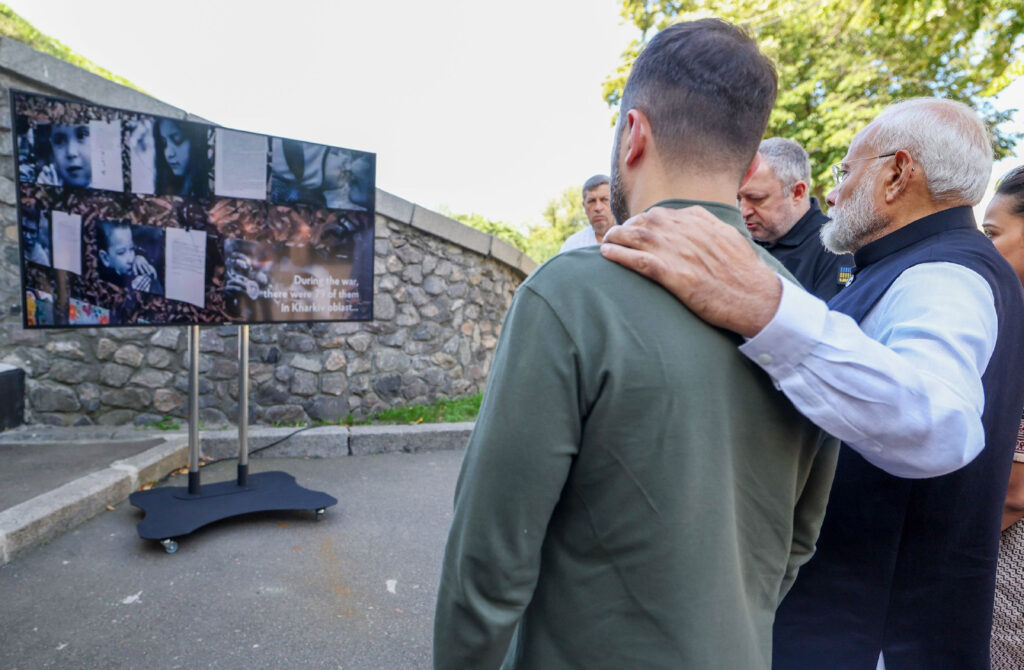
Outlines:
<svg viewBox="0 0 1024 670"><path fill-rule="evenodd" d="M266 135L217 128L213 189L223 198L266 199Z"/></svg>

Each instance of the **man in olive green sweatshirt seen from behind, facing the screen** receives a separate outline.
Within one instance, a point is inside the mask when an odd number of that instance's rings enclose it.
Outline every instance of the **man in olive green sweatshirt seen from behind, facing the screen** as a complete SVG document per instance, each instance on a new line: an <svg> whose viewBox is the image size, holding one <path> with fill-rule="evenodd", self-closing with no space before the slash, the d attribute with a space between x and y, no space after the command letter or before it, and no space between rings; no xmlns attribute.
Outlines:
<svg viewBox="0 0 1024 670"><path fill-rule="evenodd" d="M748 235L775 93L734 27L658 33L623 94L616 219L699 204ZM522 284L459 476L436 668L770 667L838 444L738 343L599 247Z"/></svg>

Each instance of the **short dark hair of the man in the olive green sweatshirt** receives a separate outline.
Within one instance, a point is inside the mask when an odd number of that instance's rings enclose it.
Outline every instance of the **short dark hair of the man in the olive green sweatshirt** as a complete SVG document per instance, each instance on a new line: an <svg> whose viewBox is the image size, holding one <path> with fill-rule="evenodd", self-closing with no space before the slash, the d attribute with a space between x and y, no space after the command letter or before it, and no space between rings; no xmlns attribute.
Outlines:
<svg viewBox="0 0 1024 670"><path fill-rule="evenodd" d="M657 33L637 57L620 123L640 110L670 162L742 174L777 93L775 67L746 33L719 18L685 22Z"/></svg>

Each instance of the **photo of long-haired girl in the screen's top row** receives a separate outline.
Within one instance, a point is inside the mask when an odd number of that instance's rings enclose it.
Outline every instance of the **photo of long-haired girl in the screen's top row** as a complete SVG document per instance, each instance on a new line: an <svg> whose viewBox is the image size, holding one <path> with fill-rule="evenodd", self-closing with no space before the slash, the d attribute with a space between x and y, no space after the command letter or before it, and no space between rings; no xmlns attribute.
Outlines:
<svg viewBox="0 0 1024 670"><path fill-rule="evenodd" d="M174 119L138 119L128 131L132 191L158 196L210 195L206 126Z"/></svg>

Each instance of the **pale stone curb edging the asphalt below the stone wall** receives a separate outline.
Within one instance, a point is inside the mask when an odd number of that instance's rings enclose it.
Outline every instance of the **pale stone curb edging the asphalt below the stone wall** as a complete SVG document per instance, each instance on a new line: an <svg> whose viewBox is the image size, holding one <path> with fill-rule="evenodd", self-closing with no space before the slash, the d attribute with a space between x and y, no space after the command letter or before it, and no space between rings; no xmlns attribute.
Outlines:
<svg viewBox="0 0 1024 670"><path fill-rule="evenodd" d="M249 430L249 451L273 445L253 454L253 458L340 458L444 451L463 449L472 430L472 422L299 429L258 427ZM38 436L53 434L45 431ZM110 436L124 438L129 434L137 436L137 433ZM139 486L186 466L187 433L164 433L161 437L165 441L161 445L0 511L0 566L92 518L108 505L124 502ZM200 433L200 450L210 458L237 456L238 444L237 428Z"/></svg>

